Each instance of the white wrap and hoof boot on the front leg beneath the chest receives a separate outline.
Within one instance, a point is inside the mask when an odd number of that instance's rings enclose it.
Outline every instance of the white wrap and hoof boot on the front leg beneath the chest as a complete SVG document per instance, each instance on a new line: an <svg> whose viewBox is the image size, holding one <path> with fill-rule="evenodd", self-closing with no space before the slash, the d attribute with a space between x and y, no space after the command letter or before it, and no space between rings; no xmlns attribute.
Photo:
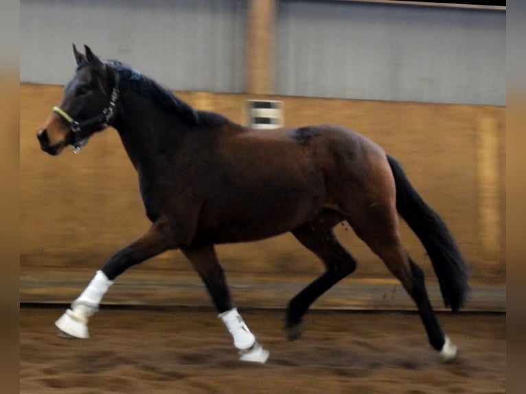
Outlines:
<svg viewBox="0 0 526 394"><path fill-rule="evenodd" d="M266 362L268 351L256 342L254 334L244 323L237 308L222 312L218 316L233 338L233 345L239 350L240 360L252 362Z"/></svg>

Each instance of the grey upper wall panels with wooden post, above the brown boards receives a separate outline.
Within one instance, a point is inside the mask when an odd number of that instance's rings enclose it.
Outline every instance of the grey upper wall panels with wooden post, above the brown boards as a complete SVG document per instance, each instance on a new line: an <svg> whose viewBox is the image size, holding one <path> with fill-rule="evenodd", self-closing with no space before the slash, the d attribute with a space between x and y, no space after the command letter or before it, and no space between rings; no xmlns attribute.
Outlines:
<svg viewBox="0 0 526 394"><path fill-rule="evenodd" d="M505 17L353 1L21 0L20 75L67 82L76 43L179 91L503 106Z"/></svg>

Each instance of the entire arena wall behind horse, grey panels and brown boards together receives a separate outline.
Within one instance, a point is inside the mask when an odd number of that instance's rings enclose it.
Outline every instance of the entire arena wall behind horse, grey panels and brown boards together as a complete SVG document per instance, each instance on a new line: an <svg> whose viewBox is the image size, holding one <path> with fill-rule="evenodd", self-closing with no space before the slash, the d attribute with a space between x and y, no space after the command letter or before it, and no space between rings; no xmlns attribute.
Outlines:
<svg viewBox="0 0 526 394"><path fill-rule="evenodd" d="M20 16L22 301L70 302L107 257L149 224L115 130L93 137L76 156L49 157L38 147L36 128L72 76L76 43L133 65L192 106L233 121L247 121L247 100L280 100L286 126L341 124L373 139L402 162L444 218L474 282L498 285L498 297L483 290L470 305L505 309L505 8L21 0ZM368 284L357 287L352 279L352 286L339 286L341 297L326 294L317 305L414 308L407 294L402 303L393 301L403 290L348 226L336 232L358 259L352 277ZM402 236L427 282L435 281L420 242L403 223ZM277 292L292 295L290 283L299 290L323 270L287 234L219 246L218 254L229 277L242 285L234 286L237 299L265 308L282 307L286 295ZM123 276L119 283L130 286L117 285L109 302L207 300L176 251ZM247 286L256 281L258 286ZM371 283L388 284L371 290ZM430 297L440 305L436 282Z"/></svg>

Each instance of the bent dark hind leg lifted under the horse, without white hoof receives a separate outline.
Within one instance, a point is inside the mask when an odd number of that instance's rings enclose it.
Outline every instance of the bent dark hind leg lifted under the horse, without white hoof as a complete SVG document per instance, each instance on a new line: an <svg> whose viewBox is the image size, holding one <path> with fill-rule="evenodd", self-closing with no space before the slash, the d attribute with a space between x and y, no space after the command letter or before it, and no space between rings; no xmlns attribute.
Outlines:
<svg viewBox="0 0 526 394"><path fill-rule="evenodd" d="M356 261L336 240L332 230L338 222L341 222L339 214L329 211L317 220L292 231L301 244L321 259L326 269L325 273L312 281L288 303L285 332L289 340L301 336L304 329L303 316L310 305L356 269Z"/></svg>

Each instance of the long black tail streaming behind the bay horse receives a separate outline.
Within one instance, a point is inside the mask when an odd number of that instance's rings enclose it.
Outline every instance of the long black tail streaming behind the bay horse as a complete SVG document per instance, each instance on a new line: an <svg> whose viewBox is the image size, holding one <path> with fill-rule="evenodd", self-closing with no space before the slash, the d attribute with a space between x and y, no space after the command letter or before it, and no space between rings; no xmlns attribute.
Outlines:
<svg viewBox="0 0 526 394"><path fill-rule="evenodd" d="M431 259L446 307L456 311L466 301L469 269L446 224L413 188L402 167L387 160L396 184L396 209L418 236Z"/></svg>

